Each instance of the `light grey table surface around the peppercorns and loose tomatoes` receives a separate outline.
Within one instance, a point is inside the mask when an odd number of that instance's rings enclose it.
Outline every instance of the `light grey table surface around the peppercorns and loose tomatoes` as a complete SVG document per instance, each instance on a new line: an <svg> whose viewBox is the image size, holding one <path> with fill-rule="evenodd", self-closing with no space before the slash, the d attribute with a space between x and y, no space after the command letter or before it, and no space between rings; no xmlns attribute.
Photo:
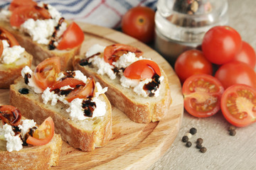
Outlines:
<svg viewBox="0 0 256 170"><path fill-rule="evenodd" d="M256 1L229 0L228 25L238 30L242 40L256 50ZM210 118L194 118L183 114L176 140L166 154L149 167L152 169L256 169L256 123L237 128L236 135L228 135L228 126L221 113ZM198 132L190 139L192 147L186 147L181 137L190 128ZM203 138L206 153L196 149L196 139Z"/></svg>

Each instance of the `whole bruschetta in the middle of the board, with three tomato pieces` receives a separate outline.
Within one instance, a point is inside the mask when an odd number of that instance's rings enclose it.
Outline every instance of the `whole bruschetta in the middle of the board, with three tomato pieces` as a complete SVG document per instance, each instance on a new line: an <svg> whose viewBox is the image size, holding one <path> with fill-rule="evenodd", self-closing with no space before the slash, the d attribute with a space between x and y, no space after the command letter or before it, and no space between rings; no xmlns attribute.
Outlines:
<svg viewBox="0 0 256 170"><path fill-rule="evenodd" d="M10 103L41 123L50 116L69 145L92 151L112 137L112 108L107 88L80 71L60 72L60 58L51 57L34 71L24 67L10 87Z"/></svg>

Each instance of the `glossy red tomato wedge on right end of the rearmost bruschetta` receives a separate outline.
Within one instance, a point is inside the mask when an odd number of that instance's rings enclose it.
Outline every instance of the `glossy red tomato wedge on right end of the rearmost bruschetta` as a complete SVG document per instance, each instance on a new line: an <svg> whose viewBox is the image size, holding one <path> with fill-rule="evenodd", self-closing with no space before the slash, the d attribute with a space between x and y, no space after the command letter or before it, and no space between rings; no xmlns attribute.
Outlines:
<svg viewBox="0 0 256 170"><path fill-rule="evenodd" d="M63 33L62 39L58 44L58 50L66 50L81 45L85 35L76 23L71 23Z"/></svg>

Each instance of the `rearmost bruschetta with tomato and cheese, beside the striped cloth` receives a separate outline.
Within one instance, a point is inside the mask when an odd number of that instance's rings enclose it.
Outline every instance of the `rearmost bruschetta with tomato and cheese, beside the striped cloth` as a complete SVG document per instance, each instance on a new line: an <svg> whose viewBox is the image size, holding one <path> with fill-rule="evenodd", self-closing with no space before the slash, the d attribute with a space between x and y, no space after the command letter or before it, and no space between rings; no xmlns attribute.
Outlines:
<svg viewBox="0 0 256 170"><path fill-rule="evenodd" d="M60 57L61 69L72 69L72 57L80 52L84 34L77 23L69 23L56 8L32 0L11 1L0 11L0 26L33 55L37 65L48 57Z"/></svg>

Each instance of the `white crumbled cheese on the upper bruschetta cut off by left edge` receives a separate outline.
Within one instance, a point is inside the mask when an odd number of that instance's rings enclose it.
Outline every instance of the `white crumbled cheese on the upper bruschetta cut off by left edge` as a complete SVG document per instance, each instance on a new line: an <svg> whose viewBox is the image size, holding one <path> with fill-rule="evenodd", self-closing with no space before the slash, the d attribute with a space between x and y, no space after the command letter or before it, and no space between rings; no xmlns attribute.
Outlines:
<svg viewBox="0 0 256 170"><path fill-rule="evenodd" d="M21 58L21 53L25 51L20 45L15 45L10 47L6 40L1 40L3 42L4 50L1 56L1 62L4 64L11 64Z"/></svg>

